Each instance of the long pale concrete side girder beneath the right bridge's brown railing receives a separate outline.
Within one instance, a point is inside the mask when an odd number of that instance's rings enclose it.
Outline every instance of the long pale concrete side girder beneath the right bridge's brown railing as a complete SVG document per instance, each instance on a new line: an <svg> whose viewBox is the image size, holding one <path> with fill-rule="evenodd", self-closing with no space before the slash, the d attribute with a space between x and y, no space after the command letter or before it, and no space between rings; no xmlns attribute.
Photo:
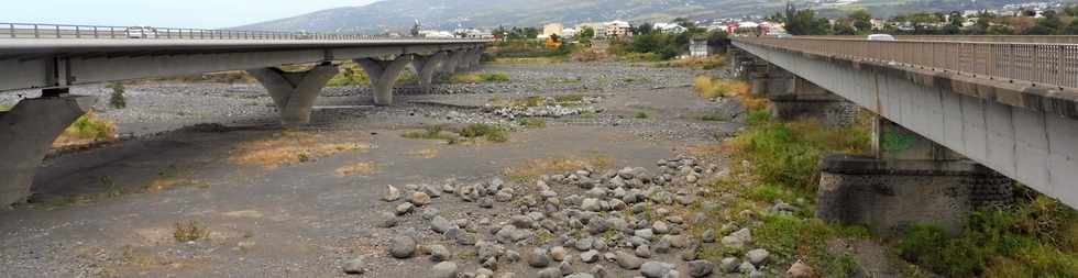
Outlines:
<svg viewBox="0 0 1078 278"><path fill-rule="evenodd" d="M1078 207L1074 101L895 65L735 45L1064 203ZM1047 94L1047 97L1046 97Z"/></svg>

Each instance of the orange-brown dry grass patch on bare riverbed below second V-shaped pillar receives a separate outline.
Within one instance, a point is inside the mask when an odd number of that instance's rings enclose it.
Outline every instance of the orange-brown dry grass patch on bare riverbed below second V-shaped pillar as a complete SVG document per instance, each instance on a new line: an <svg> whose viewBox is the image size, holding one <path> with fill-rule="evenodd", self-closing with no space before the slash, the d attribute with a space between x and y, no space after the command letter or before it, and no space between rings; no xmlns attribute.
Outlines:
<svg viewBox="0 0 1078 278"><path fill-rule="evenodd" d="M334 142L324 135L309 132L285 131L267 140L239 144L229 162L238 165L255 165L274 169L284 165L310 162L341 152L366 149L370 145L352 142Z"/></svg>

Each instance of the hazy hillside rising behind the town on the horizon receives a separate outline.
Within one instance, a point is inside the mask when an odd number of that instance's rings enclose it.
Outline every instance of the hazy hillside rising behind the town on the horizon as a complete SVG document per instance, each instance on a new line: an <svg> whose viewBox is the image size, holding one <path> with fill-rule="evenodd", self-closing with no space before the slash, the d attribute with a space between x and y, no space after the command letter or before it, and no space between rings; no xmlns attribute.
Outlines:
<svg viewBox="0 0 1078 278"><path fill-rule="evenodd" d="M804 2L804 1L794 1ZM826 2L826 1L825 1ZM905 10L955 10L992 7L1019 0L861 0L838 10L867 7L879 15ZM767 15L785 0L384 0L363 7L318 11L237 29L327 33L405 31L416 20L427 29L573 25L612 20L662 21L676 16L718 19ZM824 12L825 14L834 12Z"/></svg>

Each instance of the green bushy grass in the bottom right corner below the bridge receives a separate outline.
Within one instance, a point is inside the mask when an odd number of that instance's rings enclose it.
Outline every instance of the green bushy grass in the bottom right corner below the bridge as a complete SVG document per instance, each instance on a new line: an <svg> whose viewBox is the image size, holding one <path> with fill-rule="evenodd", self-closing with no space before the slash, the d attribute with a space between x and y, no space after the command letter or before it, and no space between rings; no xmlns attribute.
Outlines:
<svg viewBox="0 0 1078 278"><path fill-rule="evenodd" d="M1075 210L1028 193L1012 208L975 212L957 236L913 225L895 249L902 258L948 277L1078 277L1076 225Z"/></svg>

